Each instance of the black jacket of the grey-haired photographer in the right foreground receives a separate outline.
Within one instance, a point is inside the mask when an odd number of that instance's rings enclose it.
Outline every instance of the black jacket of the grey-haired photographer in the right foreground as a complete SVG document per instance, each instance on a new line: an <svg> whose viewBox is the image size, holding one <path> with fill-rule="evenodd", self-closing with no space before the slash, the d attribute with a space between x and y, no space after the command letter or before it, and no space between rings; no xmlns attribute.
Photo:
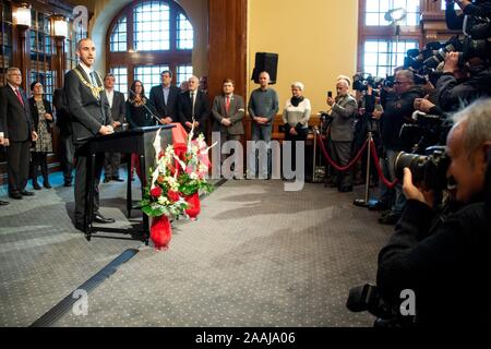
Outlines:
<svg viewBox="0 0 491 349"><path fill-rule="evenodd" d="M427 205L408 201L379 254L379 291L400 304L400 291L414 290L421 326L489 326L491 215L481 201L436 218Z"/></svg>

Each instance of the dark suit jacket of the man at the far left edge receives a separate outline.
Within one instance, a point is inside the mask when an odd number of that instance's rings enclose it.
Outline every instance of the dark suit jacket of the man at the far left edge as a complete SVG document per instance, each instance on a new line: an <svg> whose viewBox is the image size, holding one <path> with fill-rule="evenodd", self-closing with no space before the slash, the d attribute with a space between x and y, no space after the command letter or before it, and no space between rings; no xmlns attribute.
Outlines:
<svg viewBox="0 0 491 349"><path fill-rule="evenodd" d="M20 92L24 106L10 85L0 88L0 132L3 132L3 137L9 139L10 142L31 140L32 131L34 131L29 103L22 88Z"/></svg>

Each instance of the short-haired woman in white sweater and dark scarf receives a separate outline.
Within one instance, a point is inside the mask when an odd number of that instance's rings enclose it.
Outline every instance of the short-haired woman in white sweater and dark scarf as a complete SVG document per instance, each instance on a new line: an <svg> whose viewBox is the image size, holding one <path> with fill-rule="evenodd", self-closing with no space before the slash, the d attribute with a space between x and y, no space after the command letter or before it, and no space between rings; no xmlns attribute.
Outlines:
<svg viewBox="0 0 491 349"><path fill-rule="evenodd" d="M291 84L291 98L285 104L283 121L285 122L285 141L291 141L291 168L296 169L296 141L306 141L308 135L309 119L312 111L310 100L303 97L303 84ZM304 159L304 154L301 154Z"/></svg>

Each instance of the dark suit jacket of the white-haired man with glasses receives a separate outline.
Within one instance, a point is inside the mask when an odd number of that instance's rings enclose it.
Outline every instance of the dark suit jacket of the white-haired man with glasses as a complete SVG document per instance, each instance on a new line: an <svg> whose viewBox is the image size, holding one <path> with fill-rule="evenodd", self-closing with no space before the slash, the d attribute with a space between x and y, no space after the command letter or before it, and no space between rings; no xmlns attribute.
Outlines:
<svg viewBox="0 0 491 349"><path fill-rule="evenodd" d="M184 122L192 122L193 105L190 96L190 92L183 92L179 95L178 100L179 121L185 128ZM206 122L209 117L209 105L206 94L202 91L197 91L196 100L194 101L194 121L200 122L200 128L194 130L194 133L206 132Z"/></svg>

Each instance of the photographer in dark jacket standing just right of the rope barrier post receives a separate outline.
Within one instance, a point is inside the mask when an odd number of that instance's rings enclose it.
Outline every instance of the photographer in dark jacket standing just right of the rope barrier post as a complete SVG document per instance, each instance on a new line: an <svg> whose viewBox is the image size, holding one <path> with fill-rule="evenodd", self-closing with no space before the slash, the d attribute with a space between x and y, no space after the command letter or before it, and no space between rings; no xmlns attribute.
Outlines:
<svg viewBox="0 0 491 349"><path fill-rule="evenodd" d="M412 142L400 137L400 129L404 123L411 123L414 103L416 98L422 98L424 91L421 86L415 85L415 75L408 70L399 70L395 74L394 93L387 97L385 111L375 110L373 116L380 118L381 142L384 153L381 156L382 167L388 174L388 180L396 179L394 163L399 152L410 152ZM390 200L393 195L387 193L388 189L381 181L380 193L383 205L391 207L379 218L380 224L394 225L399 219L406 197L403 194L402 184L395 186L395 200Z"/></svg>

